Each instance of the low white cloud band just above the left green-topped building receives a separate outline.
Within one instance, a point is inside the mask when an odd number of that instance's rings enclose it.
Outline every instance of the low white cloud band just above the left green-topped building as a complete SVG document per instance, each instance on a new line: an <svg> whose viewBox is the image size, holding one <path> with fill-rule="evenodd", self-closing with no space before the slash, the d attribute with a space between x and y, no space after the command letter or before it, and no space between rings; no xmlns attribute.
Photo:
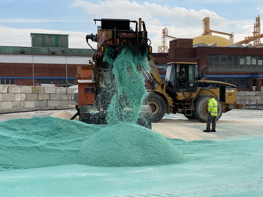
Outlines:
<svg viewBox="0 0 263 197"><path fill-rule="evenodd" d="M48 29L18 29L0 25L0 45L1 46L31 46L30 33L49 33L49 34L69 34L69 48L86 48L90 47L86 43L87 32L70 32ZM89 42L92 47L96 48L97 43Z"/></svg>

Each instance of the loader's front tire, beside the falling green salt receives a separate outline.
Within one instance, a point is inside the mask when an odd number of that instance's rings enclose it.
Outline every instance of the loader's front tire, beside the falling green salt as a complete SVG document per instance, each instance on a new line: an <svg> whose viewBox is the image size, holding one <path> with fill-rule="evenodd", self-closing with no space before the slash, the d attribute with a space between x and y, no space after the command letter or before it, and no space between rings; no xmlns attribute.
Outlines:
<svg viewBox="0 0 263 197"><path fill-rule="evenodd" d="M153 113L152 122L158 122L164 117L166 112L166 104L161 96L158 94L150 93L146 105L150 105Z"/></svg>

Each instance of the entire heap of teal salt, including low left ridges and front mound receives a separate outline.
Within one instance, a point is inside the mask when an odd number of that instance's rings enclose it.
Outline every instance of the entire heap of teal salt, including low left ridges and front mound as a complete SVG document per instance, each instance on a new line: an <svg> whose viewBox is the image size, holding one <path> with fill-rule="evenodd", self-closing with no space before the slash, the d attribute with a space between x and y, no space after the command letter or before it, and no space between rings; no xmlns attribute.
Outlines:
<svg viewBox="0 0 263 197"><path fill-rule="evenodd" d="M103 126L54 117L0 122L0 170L66 164L149 166L185 161L185 156L161 134L130 122Z"/></svg>

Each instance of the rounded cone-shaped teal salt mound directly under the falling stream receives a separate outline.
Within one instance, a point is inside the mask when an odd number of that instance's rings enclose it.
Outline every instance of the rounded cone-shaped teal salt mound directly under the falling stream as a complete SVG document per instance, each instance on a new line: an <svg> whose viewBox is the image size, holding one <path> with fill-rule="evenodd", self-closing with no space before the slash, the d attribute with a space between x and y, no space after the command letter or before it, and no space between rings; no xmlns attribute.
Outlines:
<svg viewBox="0 0 263 197"><path fill-rule="evenodd" d="M183 163L186 158L165 137L130 122L105 127L80 146L80 164L147 166Z"/></svg>

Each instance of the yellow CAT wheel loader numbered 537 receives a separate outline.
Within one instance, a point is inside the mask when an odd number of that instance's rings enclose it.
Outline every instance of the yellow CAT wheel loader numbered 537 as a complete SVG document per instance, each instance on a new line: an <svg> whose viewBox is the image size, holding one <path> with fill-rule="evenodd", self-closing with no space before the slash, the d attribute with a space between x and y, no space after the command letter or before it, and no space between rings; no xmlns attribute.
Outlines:
<svg viewBox="0 0 263 197"><path fill-rule="evenodd" d="M153 113L152 122L158 122L165 113L181 113L188 119L206 122L209 95L218 102L218 120L222 113L240 109L244 104L237 103L236 86L219 81L205 80L205 66L199 76L198 65L190 62L171 62L167 64L164 81L161 80L150 56L151 73L146 75L150 84L150 94L146 101ZM184 76L180 75L184 73Z"/></svg>

